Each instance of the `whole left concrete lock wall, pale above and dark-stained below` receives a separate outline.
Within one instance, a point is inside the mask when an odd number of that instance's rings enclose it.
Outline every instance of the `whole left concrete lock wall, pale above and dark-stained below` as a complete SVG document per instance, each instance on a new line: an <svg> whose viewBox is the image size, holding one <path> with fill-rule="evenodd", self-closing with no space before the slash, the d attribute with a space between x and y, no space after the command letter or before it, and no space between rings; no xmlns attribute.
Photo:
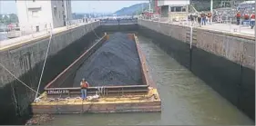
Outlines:
<svg viewBox="0 0 256 126"><path fill-rule="evenodd" d="M46 82L67 68L95 42L99 31L98 26L99 22L94 22L53 34L40 91L45 87ZM49 35L46 35L46 37L30 40L26 44L1 50L0 62L22 82L36 90L48 42ZM25 117L26 112L29 112L27 107L35 99L35 94L0 66L0 100L2 101L0 102L0 121L2 124L9 122L14 124L16 120L19 124L20 121L24 121L18 116Z"/></svg>

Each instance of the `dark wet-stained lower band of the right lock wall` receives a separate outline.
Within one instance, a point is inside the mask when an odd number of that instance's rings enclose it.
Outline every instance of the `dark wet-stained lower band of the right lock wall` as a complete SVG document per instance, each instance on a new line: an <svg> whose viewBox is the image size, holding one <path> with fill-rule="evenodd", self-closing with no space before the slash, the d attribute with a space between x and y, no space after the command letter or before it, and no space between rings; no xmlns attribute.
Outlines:
<svg viewBox="0 0 256 126"><path fill-rule="evenodd" d="M192 73L245 112L252 120L255 119L255 78L253 77L255 73L253 70L245 69L241 64L233 63L194 46L190 50L188 44L146 27L141 26L139 32L152 38L153 43L159 44L161 49L169 53L180 64L190 69ZM245 76L248 73L250 75Z"/></svg>

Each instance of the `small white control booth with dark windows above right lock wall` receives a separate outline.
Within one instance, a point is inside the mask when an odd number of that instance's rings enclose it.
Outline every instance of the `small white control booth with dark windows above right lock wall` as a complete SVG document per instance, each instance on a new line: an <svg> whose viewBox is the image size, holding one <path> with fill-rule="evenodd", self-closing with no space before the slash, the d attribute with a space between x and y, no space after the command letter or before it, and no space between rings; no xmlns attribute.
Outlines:
<svg viewBox="0 0 256 126"><path fill-rule="evenodd" d="M187 20L189 12L189 0L159 0L158 5L161 7L161 17L163 20L181 21Z"/></svg>

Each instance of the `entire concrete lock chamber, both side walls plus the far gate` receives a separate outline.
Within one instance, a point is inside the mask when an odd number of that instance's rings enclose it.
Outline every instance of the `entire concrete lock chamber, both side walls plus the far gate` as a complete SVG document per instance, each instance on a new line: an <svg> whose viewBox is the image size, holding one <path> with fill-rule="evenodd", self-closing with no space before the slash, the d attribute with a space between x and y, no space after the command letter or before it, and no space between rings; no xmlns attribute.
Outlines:
<svg viewBox="0 0 256 126"><path fill-rule="evenodd" d="M42 89L47 82L74 62L102 32L137 31L153 39L166 53L187 67L212 89L254 119L255 37L214 31L204 27L139 20L131 25L85 24L54 34ZM97 27L97 28L96 28ZM96 28L96 29L95 29ZM92 31L95 29L95 31ZM97 34L97 35L96 35ZM49 34L22 40L0 49L0 63L20 80L36 89L45 58ZM67 56L68 55L68 56ZM0 121L15 121L24 115L35 93L0 66ZM45 85L44 85L45 84ZM188 82L188 86L189 86ZM15 114L14 114L15 113Z"/></svg>

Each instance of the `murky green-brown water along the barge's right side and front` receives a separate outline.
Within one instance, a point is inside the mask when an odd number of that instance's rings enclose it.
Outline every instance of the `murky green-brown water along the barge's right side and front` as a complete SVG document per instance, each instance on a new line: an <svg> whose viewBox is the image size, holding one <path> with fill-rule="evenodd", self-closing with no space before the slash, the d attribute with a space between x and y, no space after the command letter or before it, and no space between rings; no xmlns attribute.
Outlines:
<svg viewBox="0 0 256 126"><path fill-rule="evenodd" d="M54 125L252 125L249 117L214 92L210 86L167 53L138 35L151 77L156 82L162 111L55 115Z"/></svg>

